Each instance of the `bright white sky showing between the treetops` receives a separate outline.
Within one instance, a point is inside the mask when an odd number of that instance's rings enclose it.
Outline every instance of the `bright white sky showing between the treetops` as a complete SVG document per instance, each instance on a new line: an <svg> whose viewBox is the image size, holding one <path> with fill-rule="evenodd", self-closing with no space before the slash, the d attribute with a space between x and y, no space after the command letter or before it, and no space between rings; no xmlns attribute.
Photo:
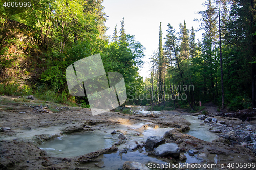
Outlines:
<svg viewBox="0 0 256 170"><path fill-rule="evenodd" d="M159 43L159 25L162 22L162 37L167 33L167 25L170 23L176 32L179 32L179 23L186 21L187 29L199 28L200 19L198 11L206 9L202 5L205 0L104 0L102 5L104 12L108 16L106 20L106 35L114 33L117 24L117 31L121 28L121 21L124 17L125 33L134 35L144 47L145 57L142 59L144 65L140 68L139 75L145 80L150 75L150 57L153 51L157 50ZM196 39L202 38L202 32L195 33ZM164 44L164 40L163 40Z"/></svg>

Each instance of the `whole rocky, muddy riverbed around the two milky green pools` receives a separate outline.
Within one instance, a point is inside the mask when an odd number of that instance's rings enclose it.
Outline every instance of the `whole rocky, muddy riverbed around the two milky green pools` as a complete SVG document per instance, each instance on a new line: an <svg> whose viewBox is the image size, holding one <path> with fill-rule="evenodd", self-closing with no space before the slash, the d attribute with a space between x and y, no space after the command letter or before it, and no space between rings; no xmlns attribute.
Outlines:
<svg viewBox="0 0 256 170"><path fill-rule="evenodd" d="M207 142L182 133L190 129L190 123L182 114L190 115L168 111L133 115L106 112L92 116L86 108L1 96L0 169L175 169L160 167L164 163L223 164L224 168L207 169L237 169L227 166L256 163L255 122L199 116L200 126L207 126L205 131L220 137ZM71 157L53 156L40 149L40 145L48 141L89 132L101 134L113 144Z"/></svg>

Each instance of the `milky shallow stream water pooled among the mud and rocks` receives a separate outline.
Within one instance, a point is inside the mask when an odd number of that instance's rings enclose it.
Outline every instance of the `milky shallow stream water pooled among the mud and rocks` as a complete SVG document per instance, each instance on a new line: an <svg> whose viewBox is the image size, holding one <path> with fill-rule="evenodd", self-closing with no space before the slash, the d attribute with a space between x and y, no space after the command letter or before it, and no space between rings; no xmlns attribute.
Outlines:
<svg viewBox="0 0 256 170"><path fill-rule="evenodd" d="M146 111L144 107L131 107L135 114L161 114L162 112L156 111ZM217 135L207 131L209 128L207 125L200 126L201 121L197 117L184 116L188 120L190 125L190 130L185 131L184 134L188 134L199 138L201 140L211 142L217 139ZM148 125L148 128L143 130L140 136L134 135L138 133L138 129L144 125ZM150 162L156 164L166 163L163 160L159 160L155 157L148 156L146 149L142 148L140 150L127 150L126 152L121 152L122 149L136 147L135 142L146 141L150 136L162 137L166 131L170 131L173 128L159 128L152 126L151 122L137 123L132 125L122 124L114 129L102 129L93 132L82 132L73 133L69 135L64 135L51 139L44 142L39 147L40 149L46 150L48 154L54 157L74 157L90 152L97 151L99 149L111 147L115 142L118 141L118 135L111 134L113 130L119 130L124 133L127 142L118 146L118 151L111 154L103 154L98 157L98 162L87 163L87 167L92 169L118 169L122 168L125 161L136 161L143 164L148 164ZM197 158L197 154L194 156L189 156L187 153L184 154L187 157L186 163L200 163L202 159Z"/></svg>

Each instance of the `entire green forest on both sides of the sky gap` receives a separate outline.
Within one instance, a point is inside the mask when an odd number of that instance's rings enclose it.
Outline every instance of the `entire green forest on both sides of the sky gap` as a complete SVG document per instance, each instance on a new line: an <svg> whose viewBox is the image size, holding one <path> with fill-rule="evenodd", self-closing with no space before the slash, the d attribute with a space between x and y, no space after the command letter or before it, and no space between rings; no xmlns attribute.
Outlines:
<svg viewBox="0 0 256 170"><path fill-rule="evenodd" d="M196 20L202 39L195 37L198 28L187 28L185 21L180 30L169 23L165 36L160 23L151 75L143 82L138 70L144 47L125 32L124 18L117 23L119 32L116 25L112 37L105 35L102 0L1 5L0 93L88 106L86 98L69 95L65 70L100 53L106 72L124 76L126 104L155 110L198 110L200 101L229 110L256 107L256 2L207 0L203 6Z"/></svg>

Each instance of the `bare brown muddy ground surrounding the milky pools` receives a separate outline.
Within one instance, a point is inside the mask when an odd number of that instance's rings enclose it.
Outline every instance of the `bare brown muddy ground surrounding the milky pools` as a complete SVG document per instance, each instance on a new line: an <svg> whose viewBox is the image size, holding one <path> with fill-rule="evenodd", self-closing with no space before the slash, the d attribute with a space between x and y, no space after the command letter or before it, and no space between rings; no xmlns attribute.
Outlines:
<svg viewBox="0 0 256 170"><path fill-rule="evenodd" d="M189 115L190 113L163 111L159 115L128 115L119 112L106 112L92 116L90 109L87 108L67 107L52 102L1 96L0 127L3 128L0 132L0 169L88 169L88 162L95 161L102 154L116 152L119 144L125 142L125 139L120 139L119 143L117 142L110 148L73 158L51 157L46 151L39 149L38 144L65 133L111 129L120 124L132 125L146 122L151 122L158 127L175 128L167 132L163 138L165 143L177 143L181 156L179 158L159 158L166 162L184 161L184 153L194 149L206 164L214 163L215 155L218 155L220 162L226 163L226 165L228 162L236 163L239 161L256 163L255 153L253 153L254 150L250 144L246 146L241 146L240 143L232 144L228 143L225 138L211 143L182 134L181 132L187 130L188 125L190 125L182 117L182 114ZM241 124L241 121L236 118L216 118L218 121L225 120L228 126ZM255 122L248 122L247 124L256 126ZM30 131L34 132L46 127L52 129L58 127L59 133L54 135L45 133L33 135L31 133L29 139L22 137L23 134L27 135ZM140 130L138 130L139 132ZM141 147L143 146L138 145L138 148ZM154 155L154 151L148 151L148 155Z"/></svg>

